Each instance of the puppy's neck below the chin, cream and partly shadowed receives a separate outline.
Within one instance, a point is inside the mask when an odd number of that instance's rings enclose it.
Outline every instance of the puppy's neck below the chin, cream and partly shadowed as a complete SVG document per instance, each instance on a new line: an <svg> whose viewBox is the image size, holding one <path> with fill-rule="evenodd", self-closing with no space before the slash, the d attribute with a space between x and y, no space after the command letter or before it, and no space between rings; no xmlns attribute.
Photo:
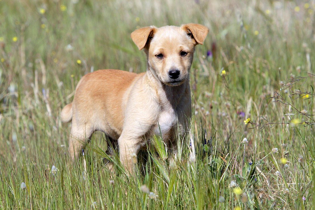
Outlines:
<svg viewBox="0 0 315 210"><path fill-rule="evenodd" d="M188 95L190 96L189 78L187 78L181 85L169 86L162 83L154 71L149 67L146 71L146 78L148 84L157 93L157 97L162 108L169 107L169 105L171 105L171 107L175 110L183 96L187 95L187 93L189 93Z"/></svg>

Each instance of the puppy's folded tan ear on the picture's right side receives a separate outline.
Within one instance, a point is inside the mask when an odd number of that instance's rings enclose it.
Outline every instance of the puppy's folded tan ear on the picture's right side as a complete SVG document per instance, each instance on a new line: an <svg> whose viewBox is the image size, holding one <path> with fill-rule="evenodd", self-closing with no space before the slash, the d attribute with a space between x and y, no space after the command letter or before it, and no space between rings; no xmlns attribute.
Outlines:
<svg viewBox="0 0 315 210"><path fill-rule="evenodd" d="M209 29L206 26L196 24L196 23L188 23L180 26L181 29L185 30L188 34L191 33L192 37L196 40L196 44L203 44Z"/></svg>

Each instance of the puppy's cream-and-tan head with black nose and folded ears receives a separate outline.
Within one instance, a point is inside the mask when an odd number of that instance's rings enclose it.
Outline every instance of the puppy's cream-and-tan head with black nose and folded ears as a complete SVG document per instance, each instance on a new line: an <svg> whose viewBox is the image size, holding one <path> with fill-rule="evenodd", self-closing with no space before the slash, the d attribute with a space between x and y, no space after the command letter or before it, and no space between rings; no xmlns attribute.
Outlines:
<svg viewBox="0 0 315 210"><path fill-rule="evenodd" d="M197 44L203 44L208 28L189 23L177 26L144 27L131 33L139 50L145 49L152 73L166 85L177 86L189 79Z"/></svg>

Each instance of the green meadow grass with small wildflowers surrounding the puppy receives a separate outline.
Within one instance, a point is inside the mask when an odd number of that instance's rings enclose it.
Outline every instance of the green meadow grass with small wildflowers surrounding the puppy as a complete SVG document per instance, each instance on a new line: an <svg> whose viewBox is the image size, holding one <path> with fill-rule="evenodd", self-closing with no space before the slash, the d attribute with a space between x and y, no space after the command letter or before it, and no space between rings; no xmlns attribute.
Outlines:
<svg viewBox="0 0 315 210"><path fill-rule="evenodd" d="M1 209L311 209L314 10L314 1L0 1ZM145 71L130 33L189 22L210 29L191 71L196 163L180 140L169 166L155 137L135 177L117 155L112 176L96 133L71 165L59 114L79 79Z"/></svg>

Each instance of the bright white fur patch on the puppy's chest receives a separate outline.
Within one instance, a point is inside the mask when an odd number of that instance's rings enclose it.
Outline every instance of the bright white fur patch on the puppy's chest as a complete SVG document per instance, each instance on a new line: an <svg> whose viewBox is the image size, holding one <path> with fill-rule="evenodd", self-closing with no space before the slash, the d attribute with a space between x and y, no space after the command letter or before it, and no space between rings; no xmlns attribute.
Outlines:
<svg viewBox="0 0 315 210"><path fill-rule="evenodd" d="M173 110L162 111L157 120L157 125L154 128L156 135L165 137L170 129L177 124L177 117Z"/></svg>

